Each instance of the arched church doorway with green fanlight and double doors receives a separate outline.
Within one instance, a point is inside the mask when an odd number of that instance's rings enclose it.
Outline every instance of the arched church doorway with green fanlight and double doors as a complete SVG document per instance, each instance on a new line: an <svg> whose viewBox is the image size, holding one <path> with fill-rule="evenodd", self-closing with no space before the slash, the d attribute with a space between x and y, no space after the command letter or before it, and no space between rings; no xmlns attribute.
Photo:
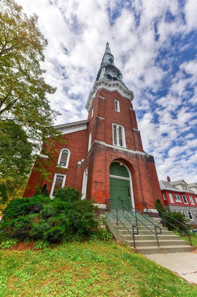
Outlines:
<svg viewBox="0 0 197 297"><path fill-rule="evenodd" d="M130 171L122 162L114 161L110 164L110 202L117 209L122 210L121 200L134 207ZM126 204L124 206L129 208ZM112 205L111 209L113 209Z"/></svg>

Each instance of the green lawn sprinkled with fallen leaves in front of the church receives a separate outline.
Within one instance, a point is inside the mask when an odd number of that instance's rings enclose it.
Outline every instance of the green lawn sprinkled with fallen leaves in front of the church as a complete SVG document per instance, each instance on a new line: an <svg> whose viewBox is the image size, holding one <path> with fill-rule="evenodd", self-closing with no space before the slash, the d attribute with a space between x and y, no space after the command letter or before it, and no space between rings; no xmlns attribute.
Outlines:
<svg viewBox="0 0 197 297"><path fill-rule="evenodd" d="M0 250L0 296L197 296L197 287L114 242Z"/></svg>

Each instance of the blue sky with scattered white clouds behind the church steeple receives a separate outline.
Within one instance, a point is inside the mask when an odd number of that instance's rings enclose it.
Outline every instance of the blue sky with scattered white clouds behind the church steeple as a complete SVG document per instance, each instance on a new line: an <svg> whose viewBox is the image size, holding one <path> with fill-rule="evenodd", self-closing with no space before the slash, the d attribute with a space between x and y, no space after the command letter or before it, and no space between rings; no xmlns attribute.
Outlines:
<svg viewBox="0 0 197 297"><path fill-rule="evenodd" d="M197 181L197 0L18 0L48 38L42 68L56 124L87 118L106 42L134 92L144 150L159 179Z"/></svg>

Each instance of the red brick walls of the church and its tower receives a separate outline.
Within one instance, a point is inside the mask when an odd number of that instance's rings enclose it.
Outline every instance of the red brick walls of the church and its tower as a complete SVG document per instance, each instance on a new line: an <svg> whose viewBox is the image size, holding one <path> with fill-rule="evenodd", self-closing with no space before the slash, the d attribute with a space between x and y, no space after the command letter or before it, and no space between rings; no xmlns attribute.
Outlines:
<svg viewBox="0 0 197 297"><path fill-rule="evenodd" d="M119 100L120 112L115 111L115 99ZM87 129L64 134L63 138L67 140L67 144L57 145L59 150L63 147L68 148L71 155L67 170L57 169L54 164L48 166L48 171L51 172L51 180L54 179L55 172L63 173L66 174L65 186L76 187L81 190L84 170L88 167L86 198L95 199L96 203L105 204L106 198L110 198L110 164L114 160L119 160L131 172L136 209L144 209L144 205L140 204L143 201L154 205L159 195L161 197L155 164L148 162L144 155L94 143L94 140L97 140L113 145L112 123L116 122L124 126L126 148L143 152L140 132L136 130L137 122L132 103L118 92L108 92L103 89L97 93L92 106L94 106L93 118L91 118L91 107ZM92 147L87 154L90 130L92 130ZM59 154L57 153L56 162L58 157ZM84 162L77 165L77 162L82 159L85 159ZM25 191L25 197L34 195L35 178L36 175L33 170L28 182L29 189ZM52 182L40 181L40 183L42 185L46 183L50 193Z"/></svg>

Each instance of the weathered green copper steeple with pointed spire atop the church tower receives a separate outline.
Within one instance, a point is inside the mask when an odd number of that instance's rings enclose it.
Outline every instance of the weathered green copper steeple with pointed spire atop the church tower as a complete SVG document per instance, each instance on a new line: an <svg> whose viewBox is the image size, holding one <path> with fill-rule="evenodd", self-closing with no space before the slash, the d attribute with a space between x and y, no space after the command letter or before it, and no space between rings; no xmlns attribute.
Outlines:
<svg viewBox="0 0 197 297"><path fill-rule="evenodd" d="M122 77L122 73L114 64L114 58L110 51L109 42L107 42L96 81L102 78L109 81L118 80L126 87L125 83L123 83Z"/></svg>

